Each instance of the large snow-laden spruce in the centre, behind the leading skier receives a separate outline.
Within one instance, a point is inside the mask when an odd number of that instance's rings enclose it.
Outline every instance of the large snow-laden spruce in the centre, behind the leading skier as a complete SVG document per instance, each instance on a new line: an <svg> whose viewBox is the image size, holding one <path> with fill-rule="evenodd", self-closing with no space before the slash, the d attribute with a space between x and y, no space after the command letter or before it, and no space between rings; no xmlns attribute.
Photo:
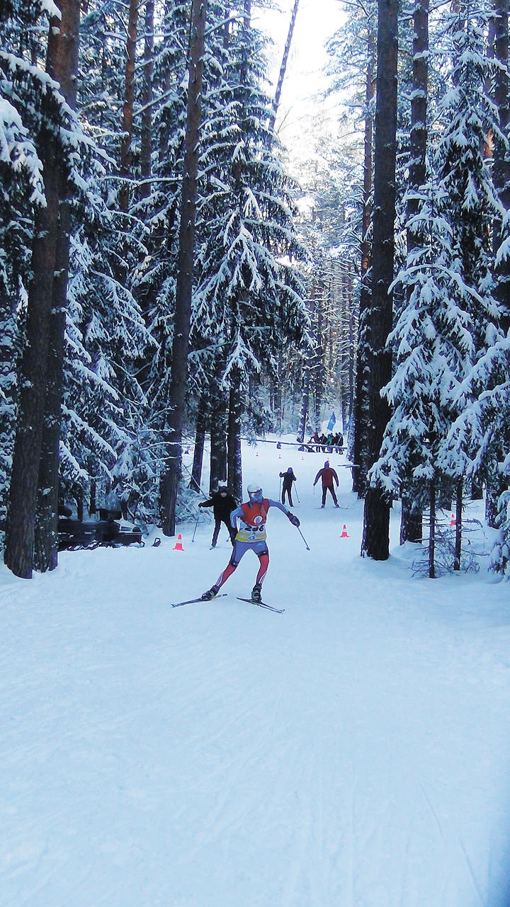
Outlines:
<svg viewBox="0 0 510 907"><path fill-rule="evenodd" d="M199 363L212 358L220 384L242 395L250 375L274 367L283 345L307 342L309 319L289 185L264 126L270 105L260 87L260 35L245 6L240 16L206 97L192 324Z"/></svg>

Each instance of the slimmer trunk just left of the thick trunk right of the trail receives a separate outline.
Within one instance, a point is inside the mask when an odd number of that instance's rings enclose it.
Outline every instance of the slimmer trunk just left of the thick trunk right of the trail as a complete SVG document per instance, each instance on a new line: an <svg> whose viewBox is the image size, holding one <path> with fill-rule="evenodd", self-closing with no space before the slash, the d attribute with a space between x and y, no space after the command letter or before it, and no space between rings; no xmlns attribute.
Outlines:
<svg viewBox="0 0 510 907"><path fill-rule="evenodd" d="M368 33L367 82L365 86L365 138L363 161L363 214L361 221L361 287L359 290L358 356L356 363L356 395L354 399L354 444L352 455L357 469L352 470L352 490L363 497L367 491L367 444L368 444L368 402L367 402L367 355L365 348L365 313L370 303L368 272L371 263L371 245L368 231L372 222L372 102L376 91L374 81L375 38Z"/></svg>

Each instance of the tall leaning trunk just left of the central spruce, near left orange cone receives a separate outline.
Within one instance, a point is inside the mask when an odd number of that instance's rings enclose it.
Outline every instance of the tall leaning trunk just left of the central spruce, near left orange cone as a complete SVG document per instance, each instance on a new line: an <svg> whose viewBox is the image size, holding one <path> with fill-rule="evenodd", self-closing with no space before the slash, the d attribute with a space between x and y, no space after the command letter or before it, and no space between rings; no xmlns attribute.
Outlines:
<svg viewBox="0 0 510 907"><path fill-rule="evenodd" d="M161 482L162 532L175 535L177 486L181 478L181 440L188 384L188 348L193 285L193 249L197 199L198 142L201 127L201 89L207 0L192 0L188 106L184 139L181 223L177 258L177 288L172 344L172 375L169 410L172 428L168 436L168 460Z"/></svg>

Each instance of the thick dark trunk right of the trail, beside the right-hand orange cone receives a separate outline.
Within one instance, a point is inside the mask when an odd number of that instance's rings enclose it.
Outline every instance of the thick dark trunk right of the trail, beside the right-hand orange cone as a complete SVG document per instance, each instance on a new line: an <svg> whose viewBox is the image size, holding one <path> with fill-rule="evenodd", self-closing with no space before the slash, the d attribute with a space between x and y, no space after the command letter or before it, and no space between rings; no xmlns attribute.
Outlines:
<svg viewBox="0 0 510 907"><path fill-rule="evenodd" d="M374 145L374 238L372 243L372 297L367 312L368 331L368 466L378 459L389 419L381 389L391 378L387 337L392 327L395 249L397 151L397 0L378 0L378 90ZM390 501L380 487L368 487L363 517L361 553L376 561L389 557Z"/></svg>

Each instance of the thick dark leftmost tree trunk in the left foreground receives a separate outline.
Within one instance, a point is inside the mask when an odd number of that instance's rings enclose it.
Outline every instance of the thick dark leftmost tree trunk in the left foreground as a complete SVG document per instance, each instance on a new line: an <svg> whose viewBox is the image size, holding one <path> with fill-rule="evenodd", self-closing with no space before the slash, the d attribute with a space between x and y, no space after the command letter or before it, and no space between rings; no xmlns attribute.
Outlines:
<svg viewBox="0 0 510 907"><path fill-rule="evenodd" d="M76 9L74 0L62 0L60 6L66 24L63 26L56 18L50 22L46 70L63 83L72 99L75 87L70 87L69 80L76 78L76 70L72 67L75 67L77 34L68 34L68 27L73 27L71 23L74 16L79 15L79 7ZM43 161L46 207L38 209L34 218L33 277L28 289L26 343L20 368L19 411L5 539L5 564L24 579L30 579L34 569L35 509L52 333L59 200L65 180L58 130L44 126L38 143Z"/></svg>

